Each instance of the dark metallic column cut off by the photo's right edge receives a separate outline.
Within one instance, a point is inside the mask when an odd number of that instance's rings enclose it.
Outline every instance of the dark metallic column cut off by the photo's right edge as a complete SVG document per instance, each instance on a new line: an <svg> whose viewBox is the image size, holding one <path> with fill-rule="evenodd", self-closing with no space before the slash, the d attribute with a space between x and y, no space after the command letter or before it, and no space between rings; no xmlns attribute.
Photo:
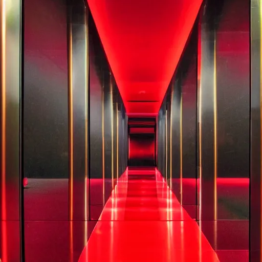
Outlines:
<svg viewBox="0 0 262 262"><path fill-rule="evenodd" d="M251 0L250 261L262 261L262 3Z"/></svg>

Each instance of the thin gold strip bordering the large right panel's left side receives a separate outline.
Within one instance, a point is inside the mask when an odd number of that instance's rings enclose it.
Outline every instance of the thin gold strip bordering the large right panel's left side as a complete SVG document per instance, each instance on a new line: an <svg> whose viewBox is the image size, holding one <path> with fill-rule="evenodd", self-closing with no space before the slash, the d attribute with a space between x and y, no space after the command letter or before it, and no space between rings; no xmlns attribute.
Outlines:
<svg viewBox="0 0 262 262"><path fill-rule="evenodd" d="M214 220L217 219L217 89L216 89L216 32L214 32Z"/></svg>

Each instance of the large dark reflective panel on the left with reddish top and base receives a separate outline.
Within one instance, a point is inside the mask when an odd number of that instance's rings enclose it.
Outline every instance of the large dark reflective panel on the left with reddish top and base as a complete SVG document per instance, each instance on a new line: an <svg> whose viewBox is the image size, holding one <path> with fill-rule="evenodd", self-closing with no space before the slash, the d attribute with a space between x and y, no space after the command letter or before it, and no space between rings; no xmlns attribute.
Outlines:
<svg viewBox="0 0 262 262"><path fill-rule="evenodd" d="M24 5L25 220L68 220L67 6L62 0L46 1L45 9L41 1Z"/></svg>

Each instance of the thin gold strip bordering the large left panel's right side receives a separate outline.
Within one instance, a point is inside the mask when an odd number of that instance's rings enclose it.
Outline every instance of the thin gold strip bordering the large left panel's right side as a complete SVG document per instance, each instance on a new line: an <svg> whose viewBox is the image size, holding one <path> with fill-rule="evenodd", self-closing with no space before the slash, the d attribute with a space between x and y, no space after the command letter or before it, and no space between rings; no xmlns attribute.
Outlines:
<svg viewBox="0 0 262 262"><path fill-rule="evenodd" d="M69 25L69 205L70 220L73 220L73 46L72 46L72 24Z"/></svg>

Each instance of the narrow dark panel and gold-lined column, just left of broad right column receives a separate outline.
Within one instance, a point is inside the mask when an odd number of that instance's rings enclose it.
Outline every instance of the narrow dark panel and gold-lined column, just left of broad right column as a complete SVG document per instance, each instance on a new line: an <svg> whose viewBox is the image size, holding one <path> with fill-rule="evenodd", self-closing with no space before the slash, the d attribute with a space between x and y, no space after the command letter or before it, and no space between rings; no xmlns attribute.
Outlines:
<svg viewBox="0 0 262 262"><path fill-rule="evenodd" d="M171 188L192 217L195 217L197 204L197 35L195 25L169 85Z"/></svg>

